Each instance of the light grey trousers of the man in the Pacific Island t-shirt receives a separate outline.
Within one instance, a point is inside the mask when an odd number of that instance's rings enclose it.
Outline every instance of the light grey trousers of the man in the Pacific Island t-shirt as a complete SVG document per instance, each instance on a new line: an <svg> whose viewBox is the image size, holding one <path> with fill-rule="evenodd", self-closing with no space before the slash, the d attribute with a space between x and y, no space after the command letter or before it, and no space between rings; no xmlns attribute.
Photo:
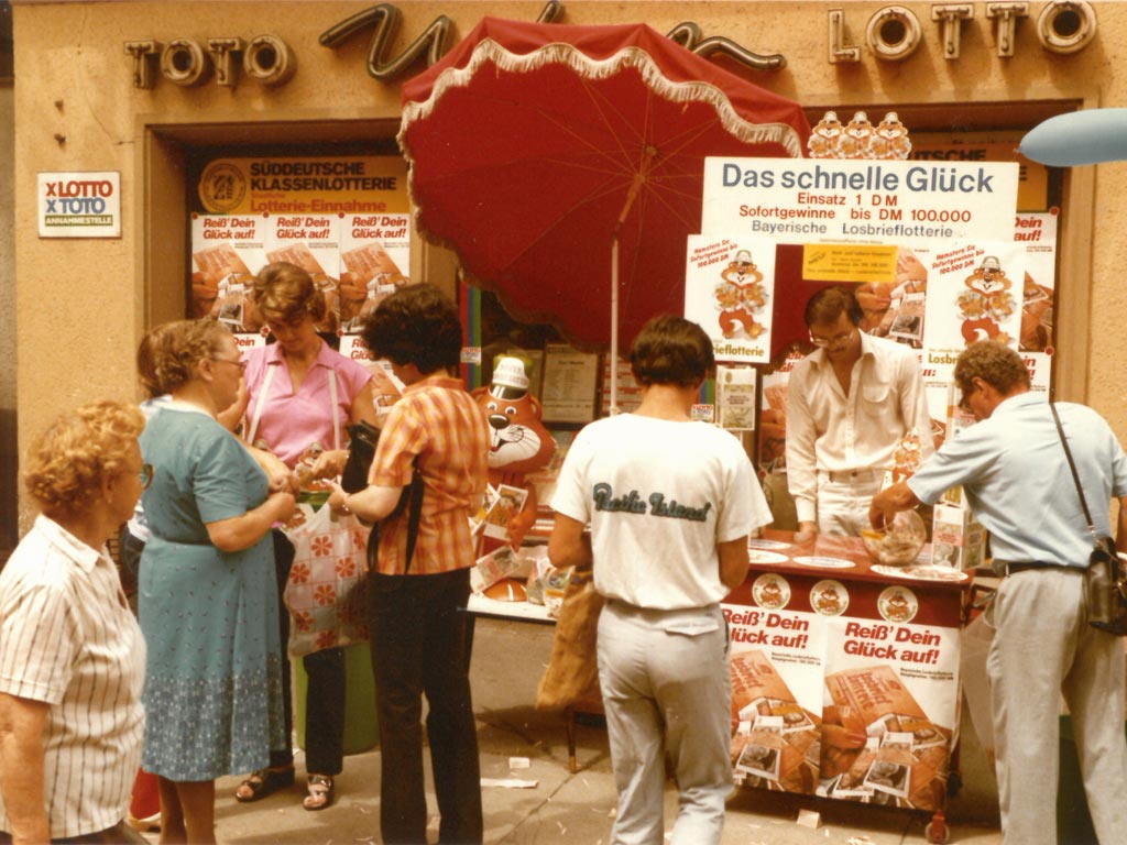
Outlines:
<svg viewBox="0 0 1127 845"><path fill-rule="evenodd" d="M720 842L733 790L727 623L718 605L647 611L610 601L598 682L619 791L613 845L662 845L665 754L677 780L672 845Z"/></svg>

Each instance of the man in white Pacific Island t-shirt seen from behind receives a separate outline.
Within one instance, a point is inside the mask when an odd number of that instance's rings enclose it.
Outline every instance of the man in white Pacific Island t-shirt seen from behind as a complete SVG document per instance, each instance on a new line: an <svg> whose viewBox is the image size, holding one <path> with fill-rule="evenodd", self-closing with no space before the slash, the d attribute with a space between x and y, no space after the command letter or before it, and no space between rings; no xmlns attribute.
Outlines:
<svg viewBox="0 0 1127 845"><path fill-rule="evenodd" d="M663 842L664 750L681 792L672 843L708 845L720 840L731 791L719 603L746 577L748 534L771 512L739 442L690 416L715 364L704 331L655 318L630 363L641 406L576 437L552 499L549 555L557 567L593 563L607 599L597 650L619 790L612 842Z"/></svg>

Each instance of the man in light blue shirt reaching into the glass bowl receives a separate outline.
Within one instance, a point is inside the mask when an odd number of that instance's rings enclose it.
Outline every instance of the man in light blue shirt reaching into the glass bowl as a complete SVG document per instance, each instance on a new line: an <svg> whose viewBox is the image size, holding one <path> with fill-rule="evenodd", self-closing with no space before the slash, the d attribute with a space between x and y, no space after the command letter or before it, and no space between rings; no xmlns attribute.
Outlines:
<svg viewBox="0 0 1127 845"><path fill-rule="evenodd" d="M988 611L995 635L986 664L1004 839L1056 843L1063 693L1099 840L1122 842L1124 650L1116 637L1088 624L1083 571L1092 535L1051 411L1030 392L1021 357L1002 344L968 347L955 382L960 407L978 422L947 441L911 479L877 493L869 519L879 528L896 512L934 504L962 486L991 532L994 569L1004 576ZM1118 498L1117 546L1127 549L1127 455L1095 411L1072 403L1057 410L1097 532L1110 533L1110 501Z"/></svg>

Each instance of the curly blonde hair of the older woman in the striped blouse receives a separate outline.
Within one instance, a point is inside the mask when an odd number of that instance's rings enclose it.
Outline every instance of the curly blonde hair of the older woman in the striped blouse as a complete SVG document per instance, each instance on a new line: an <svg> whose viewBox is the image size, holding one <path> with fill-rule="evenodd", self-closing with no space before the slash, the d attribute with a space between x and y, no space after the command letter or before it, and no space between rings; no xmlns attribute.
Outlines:
<svg viewBox="0 0 1127 845"><path fill-rule="evenodd" d="M32 444L27 492L48 516L85 514L101 495L103 480L126 472L143 429L135 406L108 399L64 413Z"/></svg>

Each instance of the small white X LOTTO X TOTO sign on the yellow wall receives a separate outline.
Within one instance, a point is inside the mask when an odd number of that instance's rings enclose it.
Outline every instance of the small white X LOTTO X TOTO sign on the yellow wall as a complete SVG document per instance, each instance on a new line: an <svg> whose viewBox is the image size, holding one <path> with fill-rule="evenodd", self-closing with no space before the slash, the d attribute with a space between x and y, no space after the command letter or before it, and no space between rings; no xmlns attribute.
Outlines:
<svg viewBox="0 0 1127 845"><path fill-rule="evenodd" d="M38 175L41 238L121 238L122 175L116 170Z"/></svg>

